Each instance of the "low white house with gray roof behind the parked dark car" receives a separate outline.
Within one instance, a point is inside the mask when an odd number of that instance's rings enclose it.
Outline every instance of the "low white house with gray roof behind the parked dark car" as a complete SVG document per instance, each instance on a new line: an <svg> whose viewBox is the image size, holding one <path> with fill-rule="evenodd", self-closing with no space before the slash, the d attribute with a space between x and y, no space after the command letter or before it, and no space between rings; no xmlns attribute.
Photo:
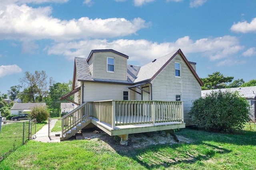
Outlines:
<svg viewBox="0 0 256 170"><path fill-rule="evenodd" d="M31 111L33 107L45 106L46 103L14 103L10 110L11 115L20 115L22 112Z"/></svg>

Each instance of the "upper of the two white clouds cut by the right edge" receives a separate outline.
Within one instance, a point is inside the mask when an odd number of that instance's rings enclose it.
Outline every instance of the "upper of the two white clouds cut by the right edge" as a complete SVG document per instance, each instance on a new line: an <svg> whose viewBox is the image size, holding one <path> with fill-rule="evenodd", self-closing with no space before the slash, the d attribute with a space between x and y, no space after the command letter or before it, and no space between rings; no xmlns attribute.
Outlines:
<svg viewBox="0 0 256 170"><path fill-rule="evenodd" d="M256 18L252 19L250 23L248 23L247 21L234 23L230 29L231 31L240 33L256 33Z"/></svg>

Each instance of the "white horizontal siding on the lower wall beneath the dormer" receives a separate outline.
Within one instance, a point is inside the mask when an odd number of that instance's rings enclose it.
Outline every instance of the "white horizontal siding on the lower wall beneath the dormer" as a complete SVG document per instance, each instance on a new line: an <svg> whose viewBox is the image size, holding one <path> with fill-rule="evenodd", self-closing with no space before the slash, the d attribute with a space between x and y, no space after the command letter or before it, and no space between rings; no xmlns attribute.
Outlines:
<svg viewBox="0 0 256 170"><path fill-rule="evenodd" d="M123 90L129 90L129 85L84 82L84 102L100 100L123 100ZM130 100L134 100L130 90Z"/></svg>

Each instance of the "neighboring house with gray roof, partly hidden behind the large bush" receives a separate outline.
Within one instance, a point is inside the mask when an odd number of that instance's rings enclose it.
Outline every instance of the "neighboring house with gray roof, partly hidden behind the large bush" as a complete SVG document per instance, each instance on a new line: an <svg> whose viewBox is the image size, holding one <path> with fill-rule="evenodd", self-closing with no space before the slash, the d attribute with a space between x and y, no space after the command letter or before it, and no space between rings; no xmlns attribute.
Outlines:
<svg viewBox="0 0 256 170"><path fill-rule="evenodd" d="M219 91L222 92L229 90L230 92L239 92L241 96L244 96L244 98L248 101L248 104L250 105L250 111L249 111L249 117L252 121L256 120L256 86L250 86L250 87L238 87L238 88L222 88L222 89L214 89L214 90L202 90L202 97L204 97L206 94L210 94L212 91Z"/></svg>

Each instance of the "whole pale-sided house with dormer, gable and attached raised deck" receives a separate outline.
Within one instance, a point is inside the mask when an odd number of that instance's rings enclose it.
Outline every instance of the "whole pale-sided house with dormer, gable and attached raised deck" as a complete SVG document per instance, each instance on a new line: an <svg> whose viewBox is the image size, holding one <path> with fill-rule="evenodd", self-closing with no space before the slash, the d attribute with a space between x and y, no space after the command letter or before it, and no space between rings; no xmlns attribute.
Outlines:
<svg viewBox="0 0 256 170"><path fill-rule="evenodd" d="M79 107L70 114L78 114L82 108L83 117L92 117L84 118L86 122L109 135L119 135L121 142L131 133L173 130L189 124L188 112L192 101L201 97L203 85L196 63L189 62L180 49L141 67L127 65L128 58L112 49L92 50L87 59L76 57L73 90L60 98L74 94L70 102ZM79 115L70 117L70 122L74 117ZM73 126L76 123L64 127L63 133Z"/></svg>

